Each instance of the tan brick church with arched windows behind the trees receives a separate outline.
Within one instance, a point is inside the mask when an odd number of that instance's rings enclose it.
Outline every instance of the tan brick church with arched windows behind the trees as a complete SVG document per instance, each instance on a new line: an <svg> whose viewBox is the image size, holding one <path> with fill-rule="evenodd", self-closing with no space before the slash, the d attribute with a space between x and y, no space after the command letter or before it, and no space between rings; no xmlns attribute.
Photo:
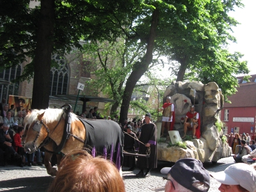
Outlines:
<svg viewBox="0 0 256 192"><path fill-rule="evenodd" d="M70 104L73 108L75 106L75 100L64 100L54 97L59 94L72 94L77 95L78 83L85 84L84 91L80 91L80 94L91 95L87 88L87 81L93 79L93 75L90 72L83 70L90 61L84 61L82 56L77 57L75 53L68 54L64 56L52 55L52 60L56 61L59 64L59 68L52 67L50 81L50 98L49 98L49 107L61 107L64 104ZM0 78L7 81L15 79L17 76L20 76L23 72L26 64L30 62L30 58L27 59L27 62L20 64L17 67L12 67L4 71L0 71ZM0 85L0 100L3 98L8 101L9 95L23 96L32 98L32 89L33 89L33 79L30 81L18 82L10 85ZM43 95L42 95L43 96ZM103 97L102 94L94 95L98 97ZM76 111L81 113L83 103L78 101L76 106ZM103 112L105 109L105 103L97 102L87 102L86 108L87 111L90 108L97 106L100 112ZM75 112L76 112L75 111Z"/></svg>

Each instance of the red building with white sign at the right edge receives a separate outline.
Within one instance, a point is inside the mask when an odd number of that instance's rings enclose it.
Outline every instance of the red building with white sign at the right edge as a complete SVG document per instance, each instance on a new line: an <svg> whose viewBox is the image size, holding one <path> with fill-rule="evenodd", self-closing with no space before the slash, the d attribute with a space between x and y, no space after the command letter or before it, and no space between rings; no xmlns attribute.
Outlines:
<svg viewBox="0 0 256 192"><path fill-rule="evenodd" d="M244 76L237 77L239 87L237 92L224 103L221 121L226 123L224 133L233 130L238 134L253 134L256 130L256 75L251 75L250 81L244 81Z"/></svg>

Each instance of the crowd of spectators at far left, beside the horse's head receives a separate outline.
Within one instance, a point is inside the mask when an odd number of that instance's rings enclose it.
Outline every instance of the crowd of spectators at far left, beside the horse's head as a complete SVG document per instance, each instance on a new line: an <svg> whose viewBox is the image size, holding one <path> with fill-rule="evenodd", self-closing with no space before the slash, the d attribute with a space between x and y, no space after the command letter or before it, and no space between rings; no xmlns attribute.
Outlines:
<svg viewBox="0 0 256 192"><path fill-rule="evenodd" d="M24 164L28 166L40 165L41 152L25 153L24 147L21 143L21 137L24 132L23 119L26 116L26 109L17 111L15 114L15 106L5 103L5 99L0 103L0 166L6 166L9 163L15 163L17 166L23 167ZM34 163L36 160L37 163Z"/></svg>

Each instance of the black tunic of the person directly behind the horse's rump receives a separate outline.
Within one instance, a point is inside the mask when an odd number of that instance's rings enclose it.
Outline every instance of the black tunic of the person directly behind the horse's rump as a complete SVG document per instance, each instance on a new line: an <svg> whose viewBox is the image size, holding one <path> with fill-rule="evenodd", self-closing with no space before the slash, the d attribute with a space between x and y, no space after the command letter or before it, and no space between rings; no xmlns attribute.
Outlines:
<svg viewBox="0 0 256 192"><path fill-rule="evenodd" d="M132 137L129 135L131 135ZM138 141L134 139L134 138L137 139L136 135L133 132L131 132L129 135L125 134L124 150L127 152L133 152L134 149L137 148L139 145L138 145ZM123 166L136 167L135 156L124 156Z"/></svg>

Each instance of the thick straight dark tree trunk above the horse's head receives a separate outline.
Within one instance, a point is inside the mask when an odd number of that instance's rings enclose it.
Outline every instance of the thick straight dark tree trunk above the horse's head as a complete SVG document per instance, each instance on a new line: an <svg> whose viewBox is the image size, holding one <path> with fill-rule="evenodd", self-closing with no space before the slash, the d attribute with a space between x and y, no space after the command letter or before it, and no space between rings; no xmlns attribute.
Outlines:
<svg viewBox="0 0 256 192"><path fill-rule="evenodd" d="M35 73L32 109L45 109L49 106L49 79L53 47L54 15L54 0L41 0L40 22L34 58Z"/></svg>

